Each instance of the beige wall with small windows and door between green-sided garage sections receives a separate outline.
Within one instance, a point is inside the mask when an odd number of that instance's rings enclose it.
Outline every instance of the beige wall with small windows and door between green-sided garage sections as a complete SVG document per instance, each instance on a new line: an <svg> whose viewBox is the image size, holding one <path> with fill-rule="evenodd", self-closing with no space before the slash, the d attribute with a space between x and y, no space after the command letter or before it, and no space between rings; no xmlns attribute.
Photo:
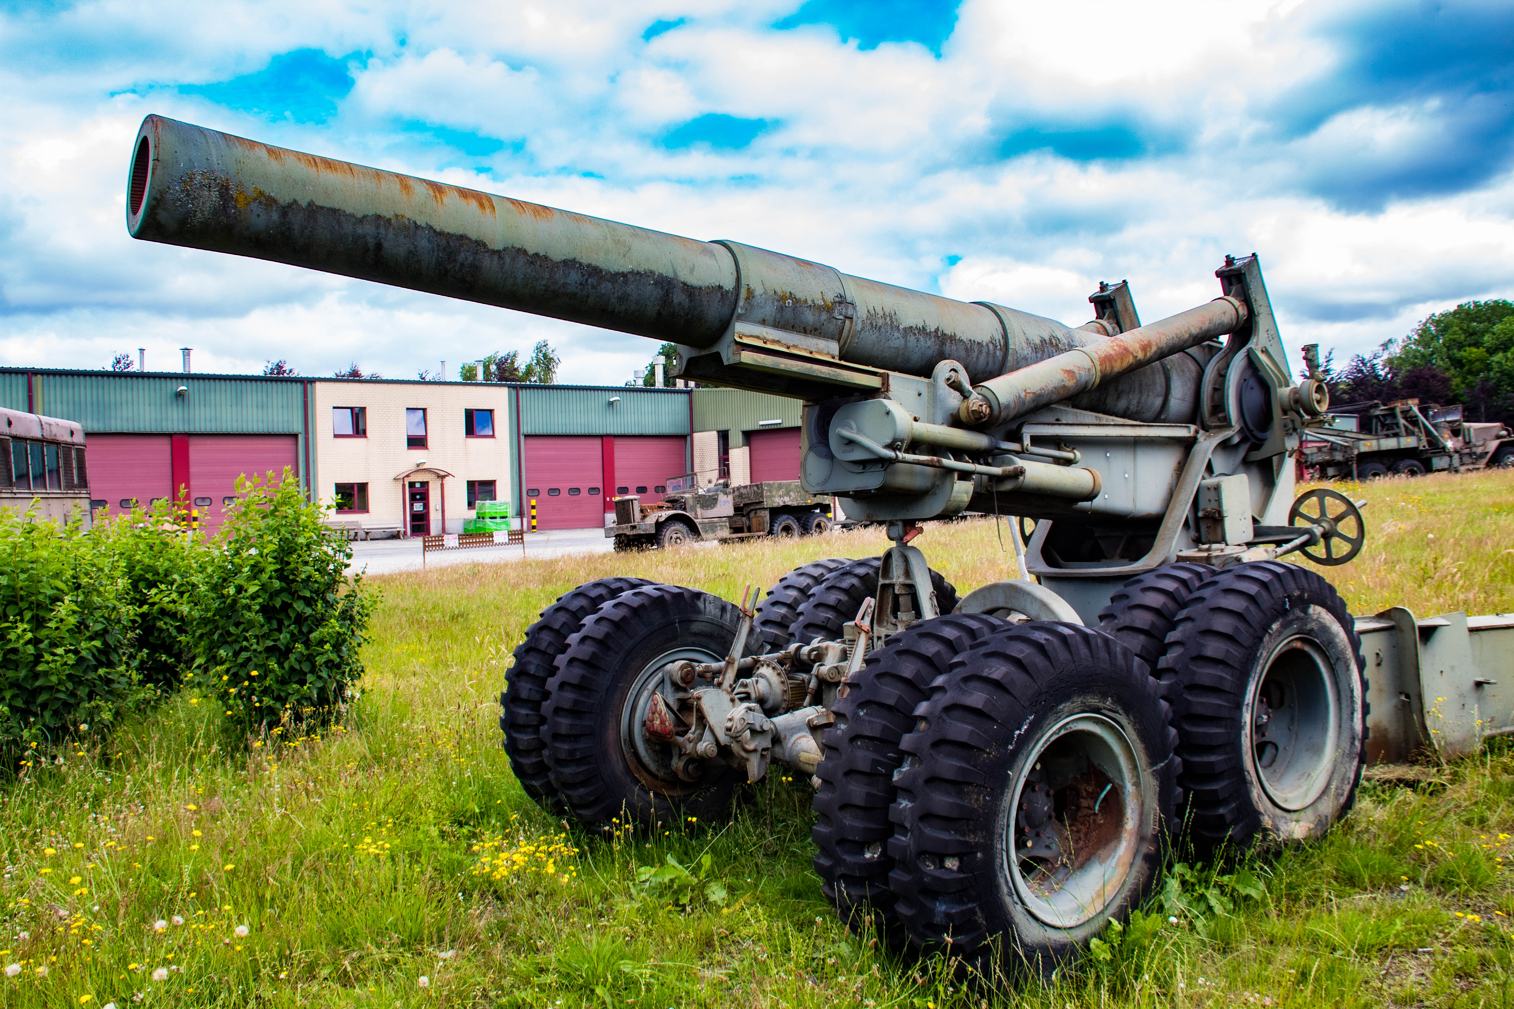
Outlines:
<svg viewBox="0 0 1514 1009"><path fill-rule="evenodd" d="M438 473L416 473L412 480L431 484L431 531L441 532L444 495L447 532L462 529L463 519L474 517L466 507L469 480L495 481L495 498L509 501L512 495L510 416L503 386L488 383L363 383L318 381L312 386L316 458L316 489L321 504L330 505L336 484L366 483L368 514L338 516L374 523L404 523L404 483L395 477L413 469L421 460L427 467L451 473L445 481ZM366 407L368 436L335 437L333 407ZM404 411L425 410L427 446L407 449ZM492 439L463 434L463 410L494 410Z"/></svg>

